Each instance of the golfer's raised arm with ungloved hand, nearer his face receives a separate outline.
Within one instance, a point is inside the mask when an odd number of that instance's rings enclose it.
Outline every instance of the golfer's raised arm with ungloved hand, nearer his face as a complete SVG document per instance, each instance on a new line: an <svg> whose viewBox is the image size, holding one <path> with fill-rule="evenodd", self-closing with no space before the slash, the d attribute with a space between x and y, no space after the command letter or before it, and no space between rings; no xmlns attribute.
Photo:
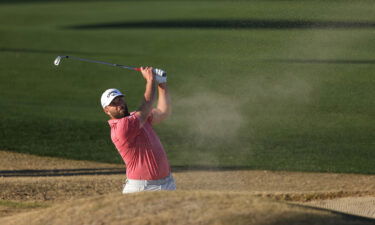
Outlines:
<svg viewBox="0 0 375 225"><path fill-rule="evenodd" d="M156 80L152 73L152 67L142 67L141 72L143 78L146 80L146 90L142 104L135 112L136 116L140 119L141 127L147 121L148 116L152 111L152 106L155 101L156 95Z"/></svg>

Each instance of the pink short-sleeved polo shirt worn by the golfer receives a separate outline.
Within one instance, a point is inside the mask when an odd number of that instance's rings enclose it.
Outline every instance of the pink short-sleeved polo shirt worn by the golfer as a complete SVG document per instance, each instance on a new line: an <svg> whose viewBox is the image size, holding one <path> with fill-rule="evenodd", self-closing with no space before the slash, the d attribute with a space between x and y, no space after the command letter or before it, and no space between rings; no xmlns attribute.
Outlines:
<svg viewBox="0 0 375 225"><path fill-rule="evenodd" d="M128 179L158 180L170 173L167 155L151 121L152 116L140 127L134 112L108 121L112 142L125 162Z"/></svg>

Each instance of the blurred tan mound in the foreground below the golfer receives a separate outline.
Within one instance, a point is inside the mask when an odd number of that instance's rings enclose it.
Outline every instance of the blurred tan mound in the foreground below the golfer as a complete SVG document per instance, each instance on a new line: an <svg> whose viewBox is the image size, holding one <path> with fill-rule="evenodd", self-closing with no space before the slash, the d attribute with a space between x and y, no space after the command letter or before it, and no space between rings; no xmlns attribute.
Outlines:
<svg viewBox="0 0 375 225"><path fill-rule="evenodd" d="M214 191L110 194L0 219L1 224L371 224L341 215Z"/></svg>

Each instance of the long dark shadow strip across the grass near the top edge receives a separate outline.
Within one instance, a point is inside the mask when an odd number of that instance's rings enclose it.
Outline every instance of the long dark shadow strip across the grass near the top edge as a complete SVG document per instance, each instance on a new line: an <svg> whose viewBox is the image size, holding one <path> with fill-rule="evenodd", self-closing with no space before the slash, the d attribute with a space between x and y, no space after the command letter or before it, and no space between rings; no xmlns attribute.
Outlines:
<svg viewBox="0 0 375 225"><path fill-rule="evenodd" d="M159 20L82 24L68 29L372 29L369 21L312 21L312 20Z"/></svg>

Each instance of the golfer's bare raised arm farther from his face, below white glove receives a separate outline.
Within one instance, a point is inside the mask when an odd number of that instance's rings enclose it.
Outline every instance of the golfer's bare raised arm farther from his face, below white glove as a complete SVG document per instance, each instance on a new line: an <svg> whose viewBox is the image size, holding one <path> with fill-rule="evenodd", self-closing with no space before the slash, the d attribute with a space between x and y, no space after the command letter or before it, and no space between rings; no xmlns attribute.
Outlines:
<svg viewBox="0 0 375 225"><path fill-rule="evenodd" d="M158 104L155 109L152 110L152 124L158 124L165 120L171 114L171 99L167 83L161 83L158 85Z"/></svg>

